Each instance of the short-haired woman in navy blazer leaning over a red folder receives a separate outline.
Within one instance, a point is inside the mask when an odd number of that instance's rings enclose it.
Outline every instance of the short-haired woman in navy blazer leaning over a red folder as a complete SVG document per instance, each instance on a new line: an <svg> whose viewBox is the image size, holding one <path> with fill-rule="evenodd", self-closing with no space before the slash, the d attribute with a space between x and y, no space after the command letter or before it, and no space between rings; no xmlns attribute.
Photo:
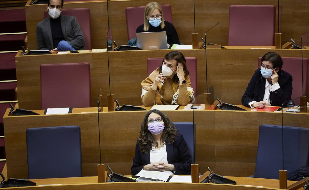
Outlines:
<svg viewBox="0 0 309 190"><path fill-rule="evenodd" d="M283 61L277 53L262 57L262 67L252 76L241 102L247 107L282 106L291 100L292 75L281 70Z"/></svg>

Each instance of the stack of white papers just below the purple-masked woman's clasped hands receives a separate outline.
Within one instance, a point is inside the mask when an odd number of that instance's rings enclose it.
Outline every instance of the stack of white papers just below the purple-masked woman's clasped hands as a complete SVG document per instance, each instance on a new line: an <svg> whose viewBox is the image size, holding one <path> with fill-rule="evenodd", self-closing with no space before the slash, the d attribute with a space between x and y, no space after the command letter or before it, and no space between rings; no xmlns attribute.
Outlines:
<svg viewBox="0 0 309 190"><path fill-rule="evenodd" d="M167 181L168 177L170 176L168 173L165 172L158 172L158 171L146 171L141 170L136 174L139 176L136 181L154 181L154 180L161 180L161 181Z"/></svg>

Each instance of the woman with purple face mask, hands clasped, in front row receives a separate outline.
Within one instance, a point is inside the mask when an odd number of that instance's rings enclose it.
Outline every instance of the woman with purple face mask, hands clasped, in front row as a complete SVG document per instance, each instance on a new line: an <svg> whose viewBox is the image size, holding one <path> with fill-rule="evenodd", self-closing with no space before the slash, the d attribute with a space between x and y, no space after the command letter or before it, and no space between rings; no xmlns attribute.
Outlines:
<svg viewBox="0 0 309 190"><path fill-rule="evenodd" d="M142 169L191 175L191 164L188 145L174 123L162 111L148 111L136 143L132 175Z"/></svg>

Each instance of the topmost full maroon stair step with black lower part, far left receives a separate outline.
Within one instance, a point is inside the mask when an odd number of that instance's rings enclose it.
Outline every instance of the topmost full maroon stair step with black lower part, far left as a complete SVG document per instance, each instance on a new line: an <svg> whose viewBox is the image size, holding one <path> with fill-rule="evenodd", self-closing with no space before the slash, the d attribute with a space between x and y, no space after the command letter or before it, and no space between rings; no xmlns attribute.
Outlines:
<svg viewBox="0 0 309 190"><path fill-rule="evenodd" d="M0 33L26 32L25 8L0 10L0 26Z"/></svg>

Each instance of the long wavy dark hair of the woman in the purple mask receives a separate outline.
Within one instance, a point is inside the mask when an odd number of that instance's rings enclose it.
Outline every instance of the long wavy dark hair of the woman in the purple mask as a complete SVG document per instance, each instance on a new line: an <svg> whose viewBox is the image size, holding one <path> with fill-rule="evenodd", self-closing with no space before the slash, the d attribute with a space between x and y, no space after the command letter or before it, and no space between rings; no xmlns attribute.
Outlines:
<svg viewBox="0 0 309 190"><path fill-rule="evenodd" d="M150 131L148 130L147 122L148 122L148 117L151 113L159 114L163 120L164 129L163 129L162 136L161 136L162 142L165 142L165 140L167 140L169 143L173 143L175 141L176 136L178 135L178 132L177 132L177 129L174 123L172 123L171 120L162 111L155 110L155 109L148 111L144 117L144 121L141 127L141 133L138 137L138 143L140 146L140 150L142 152L145 152L145 154L148 154L148 150L152 148L152 144L155 147L159 146L155 138L151 135Z"/></svg>

